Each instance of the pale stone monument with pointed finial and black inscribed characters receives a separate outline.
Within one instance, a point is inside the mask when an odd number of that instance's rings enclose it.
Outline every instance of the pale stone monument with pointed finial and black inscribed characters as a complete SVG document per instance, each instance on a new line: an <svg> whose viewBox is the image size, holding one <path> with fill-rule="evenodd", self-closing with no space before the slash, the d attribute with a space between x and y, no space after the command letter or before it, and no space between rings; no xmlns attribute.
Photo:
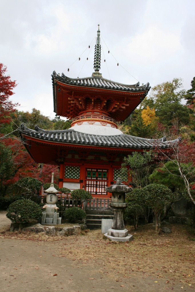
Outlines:
<svg viewBox="0 0 195 292"><path fill-rule="evenodd" d="M47 225L56 225L61 224L61 217L59 217L59 213L57 212L56 200L58 190L54 188L54 173L52 172L52 182L49 189L45 190L47 193L46 202L45 204L45 211L42 212L42 220L41 224Z"/></svg>

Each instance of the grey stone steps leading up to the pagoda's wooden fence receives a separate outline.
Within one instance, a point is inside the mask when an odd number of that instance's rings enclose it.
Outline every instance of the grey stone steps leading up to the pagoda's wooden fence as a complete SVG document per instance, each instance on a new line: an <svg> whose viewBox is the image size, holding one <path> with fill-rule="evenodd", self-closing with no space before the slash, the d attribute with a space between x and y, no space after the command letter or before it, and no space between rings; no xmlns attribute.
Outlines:
<svg viewBox="0 0 195 292"><path fill-rule="evenodd" d="M87 215L86 225L89 229L101 228L102 219L113 219L114 213L110 210L85 210Z"/></svg>

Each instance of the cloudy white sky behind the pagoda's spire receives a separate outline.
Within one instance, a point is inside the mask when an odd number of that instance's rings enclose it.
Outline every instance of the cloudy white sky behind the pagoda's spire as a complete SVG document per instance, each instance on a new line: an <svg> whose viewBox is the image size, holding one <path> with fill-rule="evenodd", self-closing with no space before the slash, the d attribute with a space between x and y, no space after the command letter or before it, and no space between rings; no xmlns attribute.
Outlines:
<svg viewBox="0 0 195 292"><path fill-rule="evenodd" d="M91 76L98 23L104 78L153 87L181 77L187 90L195 76L194 0L0 0L0 15L0 62L19 110L55 116L51 74Z"/></svg>

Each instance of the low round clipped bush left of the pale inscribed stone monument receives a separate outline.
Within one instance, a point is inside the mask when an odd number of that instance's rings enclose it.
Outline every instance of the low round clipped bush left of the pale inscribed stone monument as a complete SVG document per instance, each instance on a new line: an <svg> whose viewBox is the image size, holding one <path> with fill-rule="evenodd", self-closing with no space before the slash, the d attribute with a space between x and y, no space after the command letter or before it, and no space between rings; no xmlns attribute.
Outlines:
<svg viewBox="0 0 195 292"><path fill-rule="evenodd" d="M25 224L30 220L41 218L42 211L37 203L24 199L13 202L9 206L6 216L11 222Z"/></svg>

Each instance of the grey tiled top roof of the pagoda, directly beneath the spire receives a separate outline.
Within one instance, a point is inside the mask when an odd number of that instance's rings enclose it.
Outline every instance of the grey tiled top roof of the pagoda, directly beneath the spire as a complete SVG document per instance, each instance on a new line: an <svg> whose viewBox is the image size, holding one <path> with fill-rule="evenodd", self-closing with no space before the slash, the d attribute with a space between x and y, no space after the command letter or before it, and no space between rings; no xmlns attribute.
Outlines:
<svg viewBox="0 0 195 292"><path fill-rule="evenodd" d="M69 78L64 75L64 73L57 74L55 71L51 75L53 79L56 79L64 84L74 85L74 86L83 86L83 87L95 87L95 88L106 88L113 89L118 91L130 91L130 92L139 92L146 91L146 94L150 90L151 86L149 83L139 86L139 82L133 85L122 84L119 82L111 81L102 77L85 77L85 78ZM54 81L54 80L53 80Z"/></svg>

